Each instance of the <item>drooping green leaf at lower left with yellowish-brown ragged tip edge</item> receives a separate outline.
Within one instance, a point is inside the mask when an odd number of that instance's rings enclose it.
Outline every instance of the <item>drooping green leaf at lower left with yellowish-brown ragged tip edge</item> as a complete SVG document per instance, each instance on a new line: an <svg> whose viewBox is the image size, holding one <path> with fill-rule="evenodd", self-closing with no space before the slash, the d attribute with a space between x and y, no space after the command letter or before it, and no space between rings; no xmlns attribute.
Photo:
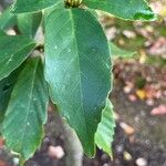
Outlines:
<svg viewBox="0 0 166 166"><path fill-rule="evenodd" d="M2 132L8 148L19 153L22 160L30 158L41 144L48 100L41 60L29 60L12 91Z"/></svg>

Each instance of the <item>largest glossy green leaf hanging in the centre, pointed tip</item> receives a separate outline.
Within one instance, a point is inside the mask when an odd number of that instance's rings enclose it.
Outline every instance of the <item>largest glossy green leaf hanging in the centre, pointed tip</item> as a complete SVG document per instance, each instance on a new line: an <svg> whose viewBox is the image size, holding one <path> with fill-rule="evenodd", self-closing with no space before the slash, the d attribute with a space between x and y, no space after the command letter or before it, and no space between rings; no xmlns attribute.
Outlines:
<svg viewBox="0 0 166 166"><path fill-rule="evenodd" d="M45 18L45 79L52 101L77 133L89 156L111 89L110 49L96 18L83 9L56 9Z"/></svg>

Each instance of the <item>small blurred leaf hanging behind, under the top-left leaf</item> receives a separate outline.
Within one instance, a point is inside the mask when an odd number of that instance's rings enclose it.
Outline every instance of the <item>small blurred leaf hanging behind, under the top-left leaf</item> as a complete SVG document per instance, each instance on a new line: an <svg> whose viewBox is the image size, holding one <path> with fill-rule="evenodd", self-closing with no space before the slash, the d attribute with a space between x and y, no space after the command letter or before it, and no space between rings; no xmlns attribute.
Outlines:
<svg viewBox="0 0 166 166"><path fill-rule="evenodd" d="M33 38L41 23L42 13L18 14L18 27L22 34Z"/></svg>

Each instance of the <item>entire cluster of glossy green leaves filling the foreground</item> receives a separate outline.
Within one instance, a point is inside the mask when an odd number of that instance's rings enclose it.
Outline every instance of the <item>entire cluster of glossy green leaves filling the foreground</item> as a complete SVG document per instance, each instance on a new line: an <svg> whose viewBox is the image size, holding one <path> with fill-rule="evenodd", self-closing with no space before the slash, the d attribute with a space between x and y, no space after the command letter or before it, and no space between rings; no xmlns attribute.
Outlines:
<svg viewBox="0 0 166 166"><path fill-rule="evenodd" d="M144 0L68 0L68 6L63 0L17 0L0 15L0 132L22 163L44 136L49 98L86 155L93 157L96 146L112 154L112 45L96 10L125 20L156 19ZM15 35L6 33L11 27ZM43 43L35 35L39 29Z"/></svg>

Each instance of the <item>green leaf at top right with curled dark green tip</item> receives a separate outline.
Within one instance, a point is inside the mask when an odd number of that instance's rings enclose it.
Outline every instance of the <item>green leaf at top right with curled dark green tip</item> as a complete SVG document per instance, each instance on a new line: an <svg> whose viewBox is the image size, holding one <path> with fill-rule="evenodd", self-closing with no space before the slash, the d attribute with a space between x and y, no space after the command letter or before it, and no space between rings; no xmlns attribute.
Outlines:
<svg viewBox="0 0 166 166"><path fill-rule="evenodd" d="M125 20L156 20L145 0L83 0L83 3L92 9L108 12Z"/></svg>

